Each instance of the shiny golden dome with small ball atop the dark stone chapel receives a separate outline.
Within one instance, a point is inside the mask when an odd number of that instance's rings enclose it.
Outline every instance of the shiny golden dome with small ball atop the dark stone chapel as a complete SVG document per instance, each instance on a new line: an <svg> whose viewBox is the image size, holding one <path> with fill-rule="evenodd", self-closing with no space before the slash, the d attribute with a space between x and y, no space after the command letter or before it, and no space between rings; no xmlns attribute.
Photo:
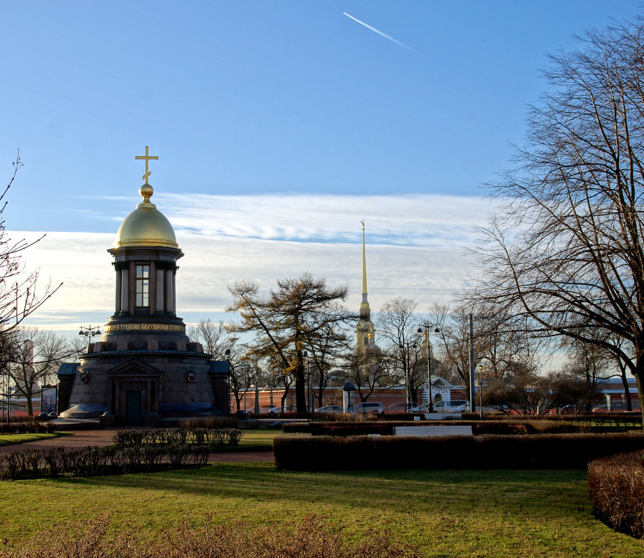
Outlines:
<svg viewBox="0 0 644 558"><path fill-rule="evenodd" d="M149 184L139 190L143 201L121 223L115 248L126 246L169 246L178 248L177 237L166 216L150 202L154 189Z"/></svg>

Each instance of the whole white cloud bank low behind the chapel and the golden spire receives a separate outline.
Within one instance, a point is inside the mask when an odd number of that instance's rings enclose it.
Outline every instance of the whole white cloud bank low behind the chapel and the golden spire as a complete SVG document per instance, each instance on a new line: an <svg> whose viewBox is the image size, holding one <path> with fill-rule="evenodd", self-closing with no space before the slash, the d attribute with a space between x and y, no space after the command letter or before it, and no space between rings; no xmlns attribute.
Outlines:
<svg viewBox="0 0 644 558"><path fill-rule="evenodd" d="M424 311L450 299L471 272L464 247L490 206L450 196L155 196L175 227L184 258L177 276L181 316L207 318L230 302L227 286L253 279L262 288L304 270L329 284L348 284L349 305L361 291L361 225L366 219L372 309L395 296ZM107 253L114 233L50 232L25 255L27 267L63 287L29 321L73 330L104 323L114 304L114 272ZM37 238L40 233L10 233Z"/></svg>

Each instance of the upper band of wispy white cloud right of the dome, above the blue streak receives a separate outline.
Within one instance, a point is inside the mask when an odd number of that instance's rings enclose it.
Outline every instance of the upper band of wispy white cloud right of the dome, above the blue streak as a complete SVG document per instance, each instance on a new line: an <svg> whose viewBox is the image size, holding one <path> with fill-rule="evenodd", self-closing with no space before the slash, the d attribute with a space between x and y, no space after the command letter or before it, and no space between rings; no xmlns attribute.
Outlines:
<svg viewBox="0 0 644 558"><path fill-rule="evenodd" d="M340 196L159 195L157 206L177 231L292 242L359 242L366 219L372 243L462 246L492 209L481 197L414 194ZM166 209L167 208L167 209Z"/></svg>

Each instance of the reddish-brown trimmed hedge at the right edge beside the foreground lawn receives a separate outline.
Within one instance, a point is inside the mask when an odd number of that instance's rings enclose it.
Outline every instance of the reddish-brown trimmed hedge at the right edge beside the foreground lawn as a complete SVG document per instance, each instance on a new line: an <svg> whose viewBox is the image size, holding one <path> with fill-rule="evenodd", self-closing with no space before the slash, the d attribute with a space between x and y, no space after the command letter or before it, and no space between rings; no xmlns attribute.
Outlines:
<svg viewBox="0 0 644 558"><path fill-rule="evenodd" d="M588 491L595 515L609 527L644 538L644 462L642 451L593 460Z"/></svg>

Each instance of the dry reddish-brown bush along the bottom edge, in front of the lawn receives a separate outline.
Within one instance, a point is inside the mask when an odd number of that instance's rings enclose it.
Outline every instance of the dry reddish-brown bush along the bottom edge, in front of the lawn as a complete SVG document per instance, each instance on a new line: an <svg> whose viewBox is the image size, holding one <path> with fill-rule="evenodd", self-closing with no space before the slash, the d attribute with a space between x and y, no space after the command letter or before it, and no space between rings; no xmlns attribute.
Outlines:
<svg viewBox="0 0 644 558"><path fill-rule="evenodd" d="M113 532L108 516L57 524L0 558L421 558L415 545L387 531L350 542L343 532L310 514L299 522L256 529L244 522L195 527L185 521L146 539L133 529Z"/></svg>

